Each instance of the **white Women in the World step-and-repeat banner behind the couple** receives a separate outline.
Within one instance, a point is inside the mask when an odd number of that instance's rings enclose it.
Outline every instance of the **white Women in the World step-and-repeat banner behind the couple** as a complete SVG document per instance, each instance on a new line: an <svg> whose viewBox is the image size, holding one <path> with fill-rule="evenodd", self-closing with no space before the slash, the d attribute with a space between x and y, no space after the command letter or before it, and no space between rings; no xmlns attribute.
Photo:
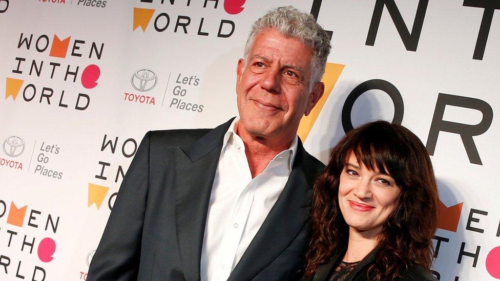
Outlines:
<svg viewBox="0 0 500 281"><path fill-rule="evenodd" d="M434 273L500 279L496 0L0 0L0 279L86 280L142 136L236 116L251 24L285 5L332 34L306 149L410 128L439 183Z"/></svg>

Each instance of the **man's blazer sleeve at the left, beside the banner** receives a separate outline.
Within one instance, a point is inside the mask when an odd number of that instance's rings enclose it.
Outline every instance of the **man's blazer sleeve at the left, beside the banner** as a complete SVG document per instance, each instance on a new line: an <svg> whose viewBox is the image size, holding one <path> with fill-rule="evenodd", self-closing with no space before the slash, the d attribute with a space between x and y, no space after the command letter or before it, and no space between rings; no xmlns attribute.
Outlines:
<svg viewBox="0 0 500 281"><path fill-rule="evenodd" d="M137 278L148 198L150 138L151 132L148 132L121 183L108 224L92 258L88 281Z"/></svg>

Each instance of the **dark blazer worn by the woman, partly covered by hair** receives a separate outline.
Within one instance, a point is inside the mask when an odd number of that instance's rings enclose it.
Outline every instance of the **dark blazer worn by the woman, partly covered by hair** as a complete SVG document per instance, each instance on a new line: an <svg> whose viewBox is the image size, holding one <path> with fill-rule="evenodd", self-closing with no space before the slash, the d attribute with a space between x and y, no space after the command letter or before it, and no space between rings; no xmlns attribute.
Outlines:
<svg viewBox="0 0 500 281"><path fill-rule="evenodd" d="M356 267L347 276L345 281L366 281L372 280L368 278L368 268L375 262L375 254L377 253L377 248L371 251L363 260L356 265ZM331 257L331 260L323 265L320 265L310 278L311 281L328 281L330 277L330 272L332 272L335 266L340 262L340 259L344 257L345 249L337 252ZM406 272L402 274L401 277L395 279L398 281L438 281L434 275L429 271L424 269L419 265L413 265L408 268Z"/></svg>

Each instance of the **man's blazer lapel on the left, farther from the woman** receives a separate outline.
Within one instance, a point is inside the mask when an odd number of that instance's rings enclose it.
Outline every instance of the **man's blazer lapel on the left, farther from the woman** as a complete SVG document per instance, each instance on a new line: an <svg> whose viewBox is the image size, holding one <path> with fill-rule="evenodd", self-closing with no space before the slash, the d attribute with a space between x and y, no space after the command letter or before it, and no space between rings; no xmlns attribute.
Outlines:
<svg viewBox="0 0 500 281"><path fill-rule="evenodd" d="M233 119L216 127L191 147L175 152L175 219L177 240L188 280L200 279L206 213L219 162L222 139Z"/></svg>

